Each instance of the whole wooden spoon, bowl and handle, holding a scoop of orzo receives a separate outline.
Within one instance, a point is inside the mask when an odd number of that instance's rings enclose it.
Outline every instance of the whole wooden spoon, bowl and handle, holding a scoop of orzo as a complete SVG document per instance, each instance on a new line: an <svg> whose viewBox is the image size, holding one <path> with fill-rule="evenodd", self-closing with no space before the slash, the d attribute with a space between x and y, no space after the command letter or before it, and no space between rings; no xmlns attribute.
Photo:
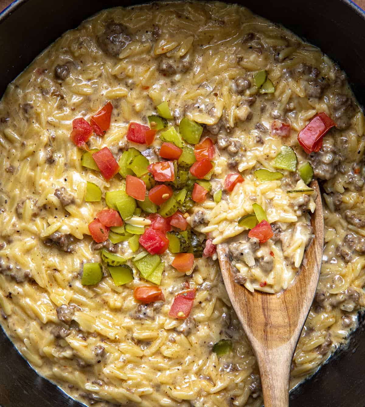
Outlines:
<svg viewBox="0 0 365 407"><path fill-rule="evenodd" d="M317 208L311 219L315 238L288 289L278 294L251 293L234 282L228 245L221 243L217 247L229 299L256 354L265 407L289 406L291 361L318 284L323 254L323 210L317 181L310 186L317 191Z"/></svg>

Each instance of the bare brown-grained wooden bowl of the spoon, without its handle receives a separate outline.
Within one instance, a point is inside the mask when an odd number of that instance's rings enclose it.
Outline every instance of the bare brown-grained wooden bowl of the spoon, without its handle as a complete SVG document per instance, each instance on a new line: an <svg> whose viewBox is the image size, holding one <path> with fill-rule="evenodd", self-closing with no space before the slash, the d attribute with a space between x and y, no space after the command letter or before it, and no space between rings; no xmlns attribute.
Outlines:
<svg viewBox="0 0 365 407"><path fill-rule="evenodd" d="M323 210L317 181L310 186L317 190L317 208L311 219L315 237L306 250L304 264L288 289L278 294L251 293L234 282L228 245L221 244L217 248L227 293L256 355L262 350L275 350L286 345L292 357L313 302L323 254Z"/></svg>

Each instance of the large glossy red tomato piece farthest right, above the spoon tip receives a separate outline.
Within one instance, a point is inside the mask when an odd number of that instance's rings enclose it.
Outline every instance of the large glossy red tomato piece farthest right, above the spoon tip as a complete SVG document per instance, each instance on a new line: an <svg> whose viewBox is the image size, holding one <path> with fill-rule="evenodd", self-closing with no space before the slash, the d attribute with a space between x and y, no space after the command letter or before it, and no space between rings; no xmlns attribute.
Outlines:
<svg viewBox="0 0 365 407"><path fill-rule="evenodd" d="M317 114L304 129L299 131L299 144L307 154L319 151L322 147L323 136L334 126L337 126L336 123L326 113Z"/></svg>

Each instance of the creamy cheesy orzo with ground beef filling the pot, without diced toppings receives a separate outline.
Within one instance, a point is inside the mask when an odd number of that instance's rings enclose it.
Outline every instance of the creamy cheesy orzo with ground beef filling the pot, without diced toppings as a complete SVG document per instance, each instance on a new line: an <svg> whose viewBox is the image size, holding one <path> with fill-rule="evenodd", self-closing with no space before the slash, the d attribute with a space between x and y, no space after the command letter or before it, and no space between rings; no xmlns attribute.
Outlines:
<svg viewBox="0 0 365 407"><path fill-rule="evenodd" d="M260 70L274 93L254 86ZM104 199L85 202L87 182L105 197L122 181L117 175L106 182L84 168L69 136L74 118L89 120L107 101L110 129L90 139L90 148L107 146L118 159L129 122L147 124L155 106L168 101L176 124L184 116L195 120L216 143L212 193L228 173L242 174L232 193L223 191L219 204L210 195L188 221L216 243L229 243L237 281L249 289L290 284L315 210L311 195L286 193L303 188L297 171L279 170L280 180L264 183L253 173L275 171L283 144L293 148L298 166L311 163L325 191L325 248L291 387L315 372L345 342L364 305L364 116L343 72L318 48L223 3L102 11L65 33L7 88L0 103L0 321L18 350L86 404L262 404L256 359L212 258L196 259L187 276L166 252L165 302L134 300L133 288L146 284L136 269L134 280L119 287L108 273L96 286L81 284L83 264L100 261L87 225L105 207ZM320 112L337 127L307 155L297 135ZM290 136L275 136L273 120L290 124ZM159 160L159 145L157 137L150 162ZM237 225L255 202L274 231L260 247ZM133 255L127 242L106 247ZM170 305L186 282L197 290L194 306L187 319L173 319ZM221 339L231 341L232 351L218 356L212 348Z"/></svg>

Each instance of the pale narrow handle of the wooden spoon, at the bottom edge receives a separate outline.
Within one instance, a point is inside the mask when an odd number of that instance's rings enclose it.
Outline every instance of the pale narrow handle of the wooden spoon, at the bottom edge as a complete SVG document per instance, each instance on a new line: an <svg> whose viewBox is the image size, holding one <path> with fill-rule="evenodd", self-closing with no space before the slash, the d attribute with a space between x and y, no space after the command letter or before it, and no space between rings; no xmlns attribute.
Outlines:
<svg viewBox="0 0 365 407"><path fill-rule="evenodd" d="M287 345L256 353L260 368L264 407L289 406L291 355Z"/></svg>

